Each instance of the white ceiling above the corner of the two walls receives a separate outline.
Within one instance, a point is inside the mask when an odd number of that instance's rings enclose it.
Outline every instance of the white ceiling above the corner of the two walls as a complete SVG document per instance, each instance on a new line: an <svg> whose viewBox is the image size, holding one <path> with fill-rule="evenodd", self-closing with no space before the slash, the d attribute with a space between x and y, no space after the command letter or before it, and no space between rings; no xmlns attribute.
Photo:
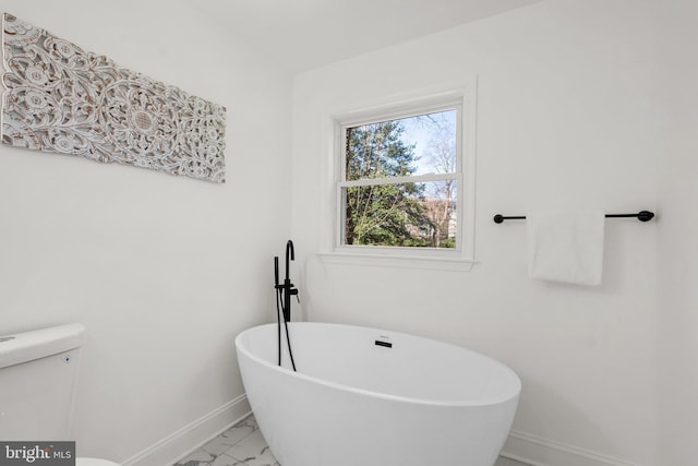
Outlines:
<svg viewBox="0 0 698 466"><path fill-rule="evenodd" d="M214 21L292 73L541 0L206 0Z"/></svg>

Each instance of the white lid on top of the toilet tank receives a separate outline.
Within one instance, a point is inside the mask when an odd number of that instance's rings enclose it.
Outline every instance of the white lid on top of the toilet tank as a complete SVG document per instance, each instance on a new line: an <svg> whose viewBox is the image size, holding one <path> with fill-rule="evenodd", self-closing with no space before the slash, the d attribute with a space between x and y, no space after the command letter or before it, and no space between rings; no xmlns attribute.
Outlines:
<svg viewBox="0 0 698 466"><path fill-rule="evenodd" d="M84 340L83 324L65 324L0 336L0 369L77 348Z"/></svg>

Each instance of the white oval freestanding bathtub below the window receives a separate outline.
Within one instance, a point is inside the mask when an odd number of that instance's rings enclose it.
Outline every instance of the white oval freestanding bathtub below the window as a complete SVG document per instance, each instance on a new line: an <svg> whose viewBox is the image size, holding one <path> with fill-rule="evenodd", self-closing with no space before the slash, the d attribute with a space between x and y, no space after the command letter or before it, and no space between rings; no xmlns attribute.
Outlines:
<svg viewBox="0 0 698 466"><path fill-rule="evenodd" d="M236 338L260 430L281 466L492 466L521 383L468 349L350 325L289 323Z"/></svg>

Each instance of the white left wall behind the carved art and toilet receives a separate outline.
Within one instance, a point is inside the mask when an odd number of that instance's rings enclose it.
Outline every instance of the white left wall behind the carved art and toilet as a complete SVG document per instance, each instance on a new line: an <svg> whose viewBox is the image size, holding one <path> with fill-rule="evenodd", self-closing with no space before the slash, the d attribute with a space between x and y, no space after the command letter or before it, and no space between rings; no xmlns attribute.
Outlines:
<svg viewBox="0 0 698 466"><path fill-rule="evenodd" d="M228 109L222 186L0 146L0 334L87 326L77 451L123 461L243 393L233 337L272 315L289 234L290 76L194 2L2 8Z"/></svg>

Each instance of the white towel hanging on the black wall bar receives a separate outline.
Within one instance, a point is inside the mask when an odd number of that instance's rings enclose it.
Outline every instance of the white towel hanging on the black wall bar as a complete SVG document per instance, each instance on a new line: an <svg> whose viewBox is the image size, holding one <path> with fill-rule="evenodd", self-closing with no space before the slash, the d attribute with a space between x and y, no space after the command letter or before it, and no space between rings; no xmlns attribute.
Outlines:
<svg viewBox="0 0 698 466"><path fill-rule="evenodd" d="M600 285L604 223L602 211L526 214L529 277Z"/></svg>

